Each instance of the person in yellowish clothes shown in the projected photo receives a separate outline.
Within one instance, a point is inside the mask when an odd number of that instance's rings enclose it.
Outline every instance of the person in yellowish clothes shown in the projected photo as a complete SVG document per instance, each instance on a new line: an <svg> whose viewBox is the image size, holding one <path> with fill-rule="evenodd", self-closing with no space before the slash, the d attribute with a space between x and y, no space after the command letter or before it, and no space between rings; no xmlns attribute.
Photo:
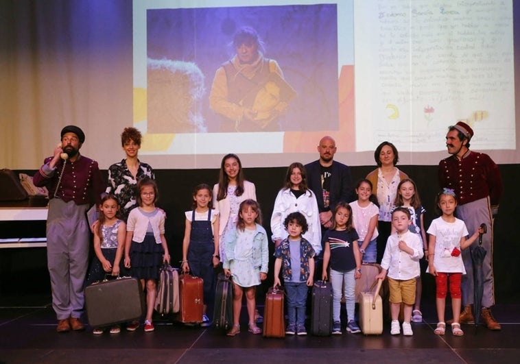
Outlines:
<svg viewBox="0 0 520 364"><path fill-rule="evenodd" d="M235 56L217 69L209 105L221 117L221 132L279 131L296 91L283 80L278 62L264 57L257 31L241 27L233 38Z"/></svg>

